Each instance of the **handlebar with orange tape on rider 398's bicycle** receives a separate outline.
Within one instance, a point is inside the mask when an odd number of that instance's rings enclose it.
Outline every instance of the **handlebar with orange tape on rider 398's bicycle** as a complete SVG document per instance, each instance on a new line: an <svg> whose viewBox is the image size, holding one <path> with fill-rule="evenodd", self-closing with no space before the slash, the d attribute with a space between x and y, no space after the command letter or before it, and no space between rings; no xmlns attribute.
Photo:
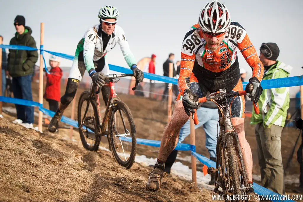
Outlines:
<svg viewBox="0 0 303 202"><path fill-rule="evenodd" d="M226 93L224 97L225 98L230 98L230 97L241 96L241 95L246 95L246 91L236 91L236 92ZM217 94L212 95L210 97L207 96L207 97L199 98L198 102L199 103L201 103L201 102L207 102L207 101L210 101L210 99L212 99L212 100L218 100L220 98L221 98L220 93L219 93L219 91L217 91ZM252 103L253 103L253 106L254 106L255 113L259 114L260 111L259 111L258 103L255 103L255 102L252 102ZM197 125L199 123L196 110L195 110L195 113L194 113L194 123L195 123L195 125Z"/></svg>

